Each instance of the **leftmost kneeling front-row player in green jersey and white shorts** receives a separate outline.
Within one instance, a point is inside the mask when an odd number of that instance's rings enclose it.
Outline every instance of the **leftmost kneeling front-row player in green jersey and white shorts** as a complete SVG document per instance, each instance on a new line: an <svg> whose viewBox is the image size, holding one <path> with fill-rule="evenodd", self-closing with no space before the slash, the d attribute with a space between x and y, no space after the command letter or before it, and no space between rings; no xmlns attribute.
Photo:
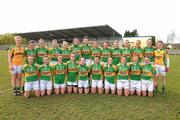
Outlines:
<svg viewBox="0 0 180 120"><path fill-rule="evenodd" d="M31 94L31 91L35 91L35 95L37 97L40 96L39 91L39 81L38 81L38 73L37 73L37 67L34 65L34 57L29 56L28 57L28 64L24 64L23 66L23 80L24 83L24 97L28 98Z"/></svg>

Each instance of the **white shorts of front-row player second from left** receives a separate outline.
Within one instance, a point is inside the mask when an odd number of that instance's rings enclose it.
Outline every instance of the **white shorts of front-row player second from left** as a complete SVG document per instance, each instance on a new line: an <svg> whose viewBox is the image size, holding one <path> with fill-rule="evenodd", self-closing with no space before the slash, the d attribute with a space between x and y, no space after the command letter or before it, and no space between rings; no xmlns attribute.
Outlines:
<svg viewBox="0 0 180 120"><path fill-rule="evenodd" d="M52 81L40 80L40 90L51 90Z"/></svg>

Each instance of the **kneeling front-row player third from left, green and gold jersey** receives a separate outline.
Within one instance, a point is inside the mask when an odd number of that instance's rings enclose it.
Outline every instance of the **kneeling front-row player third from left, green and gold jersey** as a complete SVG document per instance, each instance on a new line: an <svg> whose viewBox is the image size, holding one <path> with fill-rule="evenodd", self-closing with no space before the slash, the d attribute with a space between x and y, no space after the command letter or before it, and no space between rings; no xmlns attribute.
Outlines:
<svg viewBox="0 0 180 120"><path fill-rule="evenodd" d="M60 92L61 94L65 93L65 79L66 79L66 72L67 68L66 65L62 62L62 56L58 56L58 63L54 66L54 88L55 94L58 95Z"/></svg>

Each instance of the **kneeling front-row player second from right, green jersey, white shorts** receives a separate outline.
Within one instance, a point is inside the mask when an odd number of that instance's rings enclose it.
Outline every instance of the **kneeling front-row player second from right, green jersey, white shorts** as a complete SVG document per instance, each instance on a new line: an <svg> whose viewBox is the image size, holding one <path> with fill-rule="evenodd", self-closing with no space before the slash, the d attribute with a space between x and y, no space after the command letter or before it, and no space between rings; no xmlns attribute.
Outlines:
<svg viewBox="0 0 180 120"><path fill-rule="evenodd" d="M139 57L133 57L133 63L130 65L130 93L131 95L136 94L141 96L141 70L142 67L139 64Z"/></svg>

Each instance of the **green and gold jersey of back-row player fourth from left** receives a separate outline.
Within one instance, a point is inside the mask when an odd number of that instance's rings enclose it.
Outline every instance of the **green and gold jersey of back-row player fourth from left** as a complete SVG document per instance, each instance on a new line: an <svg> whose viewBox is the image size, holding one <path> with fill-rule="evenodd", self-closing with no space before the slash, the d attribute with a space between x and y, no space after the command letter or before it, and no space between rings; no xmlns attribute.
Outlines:
<svg viewBox="0 0 180 120"><path fill-rule="evenodd" d="M57 61L57 57L61 54L61 49L57 48L50 48L49 55L51 57L51 61Z"/></svg>

